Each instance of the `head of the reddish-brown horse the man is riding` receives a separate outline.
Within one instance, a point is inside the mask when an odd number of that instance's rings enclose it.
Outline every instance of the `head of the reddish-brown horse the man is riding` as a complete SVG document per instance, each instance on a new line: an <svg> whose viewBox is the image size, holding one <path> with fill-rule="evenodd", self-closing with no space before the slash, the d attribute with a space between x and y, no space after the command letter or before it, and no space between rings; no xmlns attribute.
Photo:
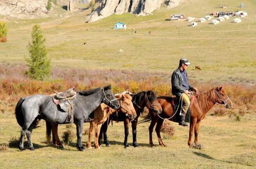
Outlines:
<svg viewBox="0 0 256 169"><path fill-rule="evenodd" d="M223 86L216 87L215 88L215 94L216 94L216 100L215 101L218 104L224 105L227 109L233 106L232 101L228 97L227 92L223 88Z"/></svg>

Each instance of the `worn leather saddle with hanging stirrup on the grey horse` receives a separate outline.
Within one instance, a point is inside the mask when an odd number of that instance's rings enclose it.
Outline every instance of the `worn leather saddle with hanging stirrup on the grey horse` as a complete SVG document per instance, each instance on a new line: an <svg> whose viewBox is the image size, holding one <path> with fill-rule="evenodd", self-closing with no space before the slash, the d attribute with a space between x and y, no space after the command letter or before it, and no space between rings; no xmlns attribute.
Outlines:
<svg viewBox="0 0 256 169"><path fill-rule="evenodd" d="M73 88L65 92L56 92L53 95L53 102L59 107L62 111L67 112L68 116L66 118L66 123L73 123L73 99L76 96L76 92Z"/></svg>

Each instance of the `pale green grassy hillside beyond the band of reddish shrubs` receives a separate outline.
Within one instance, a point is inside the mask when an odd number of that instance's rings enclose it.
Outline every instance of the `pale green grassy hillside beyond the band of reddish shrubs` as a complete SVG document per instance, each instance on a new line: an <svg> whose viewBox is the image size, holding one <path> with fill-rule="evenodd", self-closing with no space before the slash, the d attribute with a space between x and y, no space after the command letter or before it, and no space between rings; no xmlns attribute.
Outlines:
<svg viewBox="0 0 256 169"><path fill-rule="evenodd" d="M184 13L186 17L198 19L213 11L240 10L238 0L227 1L226 9L218 8L219 4L221 0L187 0L173 9L163 6L149 16L114 14L93 23L86 23L90 10L81 7L66 12L61 5L45 19L1 16L1 19L6 18L9 33L8 41L0 45L0 60L23 63L32 25L39 23L54 66L170 72L177 67L180 58L187 57L193 63L190 67L193 79L255 83L256 60L252 53L256 49L252 46L256 45L256 2L244 1L243 10L248 16L242 18L241 23L232 23L230 19L218 25L207 21L190 27L187 21L169 21L172 13ZM119 21L127 24L126 30L112 29ZM87 44L83 45L84 42ZM124 53L119 53L119 49ZM194 71L194 65L200 65L203 70Z"/></svg>

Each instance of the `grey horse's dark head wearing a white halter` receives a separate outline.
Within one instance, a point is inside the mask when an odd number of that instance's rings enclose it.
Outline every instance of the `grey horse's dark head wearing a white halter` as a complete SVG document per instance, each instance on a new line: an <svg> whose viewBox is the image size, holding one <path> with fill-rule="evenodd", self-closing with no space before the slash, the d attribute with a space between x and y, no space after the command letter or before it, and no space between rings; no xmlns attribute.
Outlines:
<svg viewBox="0 0 256 169"><path fill-rule="evenodd" d="M118 109L120 107L120 104L111 91L111 85L104 86L102 91L103 91L102 103L107 104L113 109Z"/></svg>

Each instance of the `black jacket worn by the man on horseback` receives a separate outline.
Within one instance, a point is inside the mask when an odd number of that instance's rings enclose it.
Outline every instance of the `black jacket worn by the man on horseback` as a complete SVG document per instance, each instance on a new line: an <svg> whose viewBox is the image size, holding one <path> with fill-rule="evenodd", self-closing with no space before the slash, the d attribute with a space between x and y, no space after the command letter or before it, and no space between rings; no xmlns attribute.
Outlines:
<svg viewBox="0 0 256 169"><path fill-rule="evenodd" d="M186 70L184 70L184 72L187 76ZM188 86L190 90L193 90L193 86L191 86L189 83ZM185 89L182 88L182 75L179 68L174 70L173 74L171 75L171 92L175 96L180 96L185 92Z"/></svg>

